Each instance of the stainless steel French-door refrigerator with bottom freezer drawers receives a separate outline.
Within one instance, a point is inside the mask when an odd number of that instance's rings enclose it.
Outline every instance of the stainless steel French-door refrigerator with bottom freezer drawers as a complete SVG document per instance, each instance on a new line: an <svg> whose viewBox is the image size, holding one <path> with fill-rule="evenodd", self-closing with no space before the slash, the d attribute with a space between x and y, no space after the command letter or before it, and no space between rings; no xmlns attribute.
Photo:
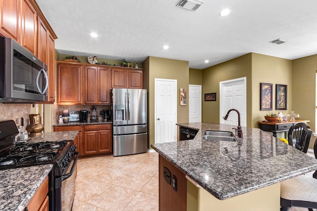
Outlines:
<svg viewBox="0 0 317 211"><path fill-rule="evenodd" d="M113 88L113 156L147 152L147 90Z"/></svg>

